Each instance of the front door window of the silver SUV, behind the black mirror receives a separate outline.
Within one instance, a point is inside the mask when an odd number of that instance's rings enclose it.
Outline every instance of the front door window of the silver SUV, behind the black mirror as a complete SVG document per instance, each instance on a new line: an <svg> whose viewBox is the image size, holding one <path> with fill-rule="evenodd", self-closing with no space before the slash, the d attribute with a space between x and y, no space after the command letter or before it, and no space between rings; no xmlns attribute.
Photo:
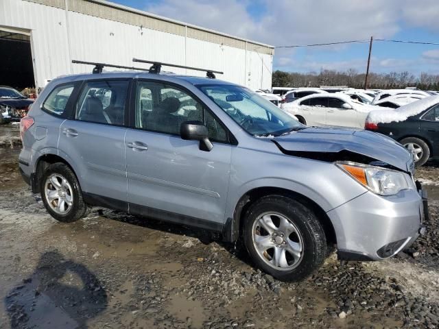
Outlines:
<svg viewBox="0 0 439 329"><path fill-rule="evenodd" d="M184 90L158 82L139 82L136 92L137 128L180 135L184 121L201 121L211 141L227 142L228 134L213 115Z"/></svg>

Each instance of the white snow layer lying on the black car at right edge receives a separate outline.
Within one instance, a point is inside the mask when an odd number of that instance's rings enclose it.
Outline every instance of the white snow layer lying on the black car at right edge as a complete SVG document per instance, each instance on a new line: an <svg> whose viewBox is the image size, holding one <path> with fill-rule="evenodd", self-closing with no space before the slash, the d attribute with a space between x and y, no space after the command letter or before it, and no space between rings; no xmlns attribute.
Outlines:
<svg viewBox="0 0 439 329"><path fill-rule="evenodd" d="M426 110L437 103L439 103L439 96L430 96L394 110L374 110L368 114L366 121L370 123L405 121L408 117L419 114L420 112L423 112L423 110Z"/></svg>

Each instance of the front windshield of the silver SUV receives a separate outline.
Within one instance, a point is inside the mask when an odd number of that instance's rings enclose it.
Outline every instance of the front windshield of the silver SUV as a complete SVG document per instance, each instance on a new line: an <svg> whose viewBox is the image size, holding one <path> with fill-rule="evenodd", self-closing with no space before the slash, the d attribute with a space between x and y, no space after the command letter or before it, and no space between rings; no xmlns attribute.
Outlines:
<svg viewBox="0 0 439 329"><path fill-rule="evenodd" d="M226 84L203 85L198 88L254 136L278 136L305 127L248 88Z"/></svg>

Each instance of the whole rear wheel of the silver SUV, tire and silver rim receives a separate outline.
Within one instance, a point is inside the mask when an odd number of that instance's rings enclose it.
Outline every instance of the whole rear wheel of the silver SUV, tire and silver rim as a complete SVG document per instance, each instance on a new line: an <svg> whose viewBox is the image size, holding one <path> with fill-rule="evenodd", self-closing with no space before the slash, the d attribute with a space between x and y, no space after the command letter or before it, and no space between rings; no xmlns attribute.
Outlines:
<svg viewBox="0 0 439 329"><path fill-rule="evenodd" d="M84 217L88 207L82 199L80 184L66 164L50 164L40 180L43 204L54 219L71 223Z"/></svg>

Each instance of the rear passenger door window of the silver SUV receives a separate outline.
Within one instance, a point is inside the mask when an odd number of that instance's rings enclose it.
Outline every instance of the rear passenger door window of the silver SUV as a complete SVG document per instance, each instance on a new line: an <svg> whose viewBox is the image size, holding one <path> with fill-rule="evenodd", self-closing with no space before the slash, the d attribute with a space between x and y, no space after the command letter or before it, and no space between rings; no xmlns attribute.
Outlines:
<svg viewBox="0 0 439 329"><path fill-rule="evenodd" d="M123 125L128 81L87 82L76 104L75 118L80 121Z"/></svg>

